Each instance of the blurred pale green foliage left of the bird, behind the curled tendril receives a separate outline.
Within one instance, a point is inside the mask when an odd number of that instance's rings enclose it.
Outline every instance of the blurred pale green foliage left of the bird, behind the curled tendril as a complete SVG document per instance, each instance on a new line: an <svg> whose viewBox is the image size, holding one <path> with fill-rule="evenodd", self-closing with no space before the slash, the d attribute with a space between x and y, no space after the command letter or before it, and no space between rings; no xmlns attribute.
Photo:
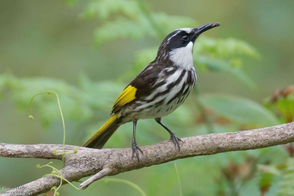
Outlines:
<svg viewBox="0 0 294 196"><path fill-rule="evenodd" d="M6 89L12 100L21 109L29 110L31 97L43 91L56 91L60 97L60 103L64 108L64 117L77 123L82 123L94 117L96 110L107 111L124 85L118 85L110 81L99 83L90 81L87 77L80 77L79 86L70 85L64 81L51 78L16 78L11 74L0 75L0 91ZM101 93L103 92L103 93ZM32 107L33 113L39 110L39 116L43 125L48 126L54 120L60 119L53 96L42 95L36 98ZM57 111L57 112L56 112Z"/></svg>

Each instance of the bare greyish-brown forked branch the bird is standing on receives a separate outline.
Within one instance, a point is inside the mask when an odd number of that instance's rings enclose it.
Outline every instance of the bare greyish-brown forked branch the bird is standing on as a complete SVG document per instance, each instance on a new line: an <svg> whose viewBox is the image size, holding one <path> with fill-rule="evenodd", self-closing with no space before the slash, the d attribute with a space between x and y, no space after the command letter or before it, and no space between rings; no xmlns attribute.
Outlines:
<svg viewBox="0 0 294 196"><path fill-rule="evenodd" d="M65 156L65 167L61 172L63 177L69 181L76 181L96 174L81 183L80 187L83 188L107 175L116 175L180 158L258 149L294 142L294 122L235 133L206 134L181 139L184 143L181 144L179 152L170 141L141 147L144 154L139 154L139 162L136 158L131 158L132 150L130 148L89 149L77 147L77 153ZM66 145L66 151L73 151L74 147ZM61 152L62 145L0 143L0 156L61 159L61 156L53 155L53 149ZM59 178L47 176L20 187L26 187L26 192L32 192L33 195L39 195L49 191L53 186L58 186L59 183ZM9 192L22 191L14 190Z"/></svg>

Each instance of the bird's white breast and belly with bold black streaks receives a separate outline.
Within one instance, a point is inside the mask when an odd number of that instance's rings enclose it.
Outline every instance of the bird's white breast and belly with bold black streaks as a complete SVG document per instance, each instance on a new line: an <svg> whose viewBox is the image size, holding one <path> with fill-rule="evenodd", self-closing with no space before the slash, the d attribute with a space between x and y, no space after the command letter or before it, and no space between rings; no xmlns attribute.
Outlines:
<svg viewBox="0 0 294 196"><path fill-rule="evenodd" d="M194 69L178 68L174 74L160 77L158 86L155 85L147 96L140 97L121 109L121 123L169 115L182 105L193 90L195 81Z"/></svg>

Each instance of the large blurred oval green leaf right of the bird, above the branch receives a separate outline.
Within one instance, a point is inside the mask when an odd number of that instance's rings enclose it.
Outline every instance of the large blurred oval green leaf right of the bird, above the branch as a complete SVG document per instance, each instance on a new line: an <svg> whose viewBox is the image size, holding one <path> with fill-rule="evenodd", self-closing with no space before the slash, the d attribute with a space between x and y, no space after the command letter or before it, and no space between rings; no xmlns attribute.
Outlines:
<svg viewBox="0 0 294 196"><path fill-rule="evenodd" d="M230 120L253 125L278 125L278 119L262 105L241 97L229 95L200 95L199 101L206 108Z"/></svg>

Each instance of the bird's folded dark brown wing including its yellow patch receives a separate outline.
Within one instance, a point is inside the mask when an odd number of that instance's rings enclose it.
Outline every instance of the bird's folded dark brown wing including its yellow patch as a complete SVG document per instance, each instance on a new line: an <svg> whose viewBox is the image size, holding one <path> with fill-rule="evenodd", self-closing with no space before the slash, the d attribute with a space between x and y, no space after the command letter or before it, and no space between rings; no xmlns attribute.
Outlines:
<svg viewBox="0 0 294 196"><path fill-rule="evenodd" d="M162 66L152 63L145 67L116 98L111 113L116 113L127 103L148 95L152 91L152 86L156 83L161 70Z"/></svg>

